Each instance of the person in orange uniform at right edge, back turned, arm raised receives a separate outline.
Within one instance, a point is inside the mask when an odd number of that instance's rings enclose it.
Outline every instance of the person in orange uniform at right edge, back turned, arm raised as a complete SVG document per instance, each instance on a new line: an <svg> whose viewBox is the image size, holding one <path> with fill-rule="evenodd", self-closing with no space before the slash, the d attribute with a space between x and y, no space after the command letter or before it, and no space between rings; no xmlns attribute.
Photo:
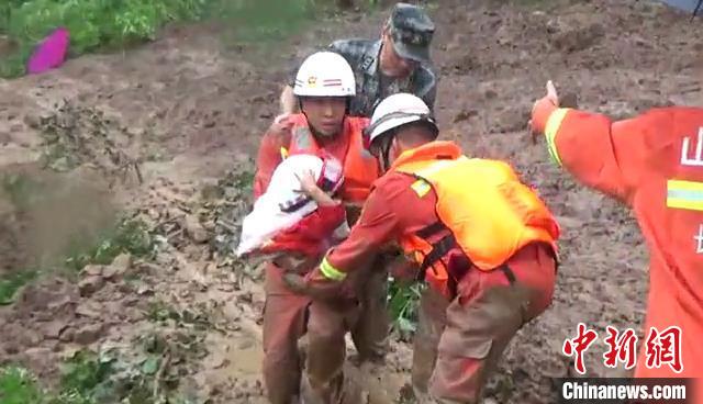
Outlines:
<svg viewBox="0 0 703 404"><path fill-rule="evenodd" d="M650 327L680 327L683 370L649 369L643 341L635 377L703 377L703 109L660 108L612 121L559 108L548 82L547 96L533 108L532 127L544 133L559 166L632 207L647 240L645 336Z"/></svg>

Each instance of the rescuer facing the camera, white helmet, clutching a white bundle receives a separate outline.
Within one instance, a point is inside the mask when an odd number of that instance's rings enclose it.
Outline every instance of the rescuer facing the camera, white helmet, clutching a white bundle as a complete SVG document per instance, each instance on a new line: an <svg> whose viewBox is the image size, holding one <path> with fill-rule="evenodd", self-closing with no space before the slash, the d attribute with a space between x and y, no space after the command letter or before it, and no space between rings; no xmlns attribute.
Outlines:
<svg viewBox="0 0 703 404"><path fill-rule="evenodd" d="M313 54L298 71L294 93L302 113L279 116L264 136L254 180L255 198L265 192L274 170L287 155L314 154L322 148L343 161L345 180L338 197L347 206L360 206L379 171L378 162L364 148L361 134L368 125L368 119L347 116L348 104L356 93L350 66L342 56L331 52ZM349 213L347 218L354 220ZM338 310L311 304L308 296L290 291L282 282L281 274L286 270L311 270L320 259L309 257L301 262L298 258L286 256L269 262L265 270L264 381L272 404L290 404L300 394L298 339L303 334L308 334L308 362L324 364L306 366L308 379L320 380L342 367L344 359L335 361L326 352L345 346L346 330L352 332L361 357L372 355L375 347L369 341L382 339L388 333L382 327L373 328L378 325L373 321L379 318L379 313L383 313L386 294L382 277L367 277L364 283L359 283L358 293L354 296L347 294L348 302L337 305ZM368 298L369 294L371 298ZM376 295L382 300L373 299ZM349 311L345 307L357 310L353 298L364 302L361 316L347 316ZM373 314L364 315L364 311L373 311ZM315 372L323 375L317 377Z"/></svg>

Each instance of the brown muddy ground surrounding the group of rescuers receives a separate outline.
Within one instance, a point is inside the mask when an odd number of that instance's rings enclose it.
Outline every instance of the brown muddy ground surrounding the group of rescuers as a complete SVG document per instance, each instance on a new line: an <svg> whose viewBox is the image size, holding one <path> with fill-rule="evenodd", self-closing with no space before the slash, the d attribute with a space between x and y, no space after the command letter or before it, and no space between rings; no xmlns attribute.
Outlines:
<svg viewBox="0 0 703 404"><path fill-rule="evenodd" d="M699 103L703 30L647 1L467 3L431 7L443 136L512 161L563 228L554 304L515 338L488 395L549 403L549 378L573 372L561 345L579 322L602 335L606 325L639 332L647 252L627 211L574 184L528 141L532 102L553 79L580 106L617 117ZM170 344L163 358L180 367L181 390L213 403L264 403L259 273L223 245L246 206L246 172L291 61L335 37L376 36L382 15L348 12L278 47L233 45L216 26L171 27L140 49L0 81L0 172L58 190L32 209L0 198L1 272L49 257L118 210L159 235L153 257L121 256L23 289L0 308L0 361L20 361L51 384L58 361L81 347L134 350L158 335ZM626 374L605 368L603 351L599 341L587 354L589 372ZM371 402L399 399L410 358L394 343L386 369L360 372L387 373Z"/></svg>

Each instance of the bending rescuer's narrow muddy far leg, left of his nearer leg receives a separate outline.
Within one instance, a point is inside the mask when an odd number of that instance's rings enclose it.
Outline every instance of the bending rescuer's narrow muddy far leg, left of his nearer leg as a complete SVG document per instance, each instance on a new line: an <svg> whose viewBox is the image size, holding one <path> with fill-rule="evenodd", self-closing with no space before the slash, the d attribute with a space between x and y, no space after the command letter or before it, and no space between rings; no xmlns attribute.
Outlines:
<svg viewBox="0 0 703 404"><path fill-rule="evenodd" d="M413 338L412 384L416 397L427 394L429 377L437 360L437 346L446 323L447 298L425 289L420 299L417 332Z"/></svg>

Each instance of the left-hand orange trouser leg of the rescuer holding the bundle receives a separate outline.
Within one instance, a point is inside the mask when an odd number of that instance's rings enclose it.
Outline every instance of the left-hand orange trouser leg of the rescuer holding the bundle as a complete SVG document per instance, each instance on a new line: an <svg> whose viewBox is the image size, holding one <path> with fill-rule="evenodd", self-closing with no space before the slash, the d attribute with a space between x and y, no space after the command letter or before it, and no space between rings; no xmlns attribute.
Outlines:
<svg viewBox="0 0 703 404"><path fill-rule="evenodd" d="M305 332L310 299L282 283L281 269L266 267L264 307L264 383L271 404L291 404L300 394L301 359L298 339Z"/></svg>

